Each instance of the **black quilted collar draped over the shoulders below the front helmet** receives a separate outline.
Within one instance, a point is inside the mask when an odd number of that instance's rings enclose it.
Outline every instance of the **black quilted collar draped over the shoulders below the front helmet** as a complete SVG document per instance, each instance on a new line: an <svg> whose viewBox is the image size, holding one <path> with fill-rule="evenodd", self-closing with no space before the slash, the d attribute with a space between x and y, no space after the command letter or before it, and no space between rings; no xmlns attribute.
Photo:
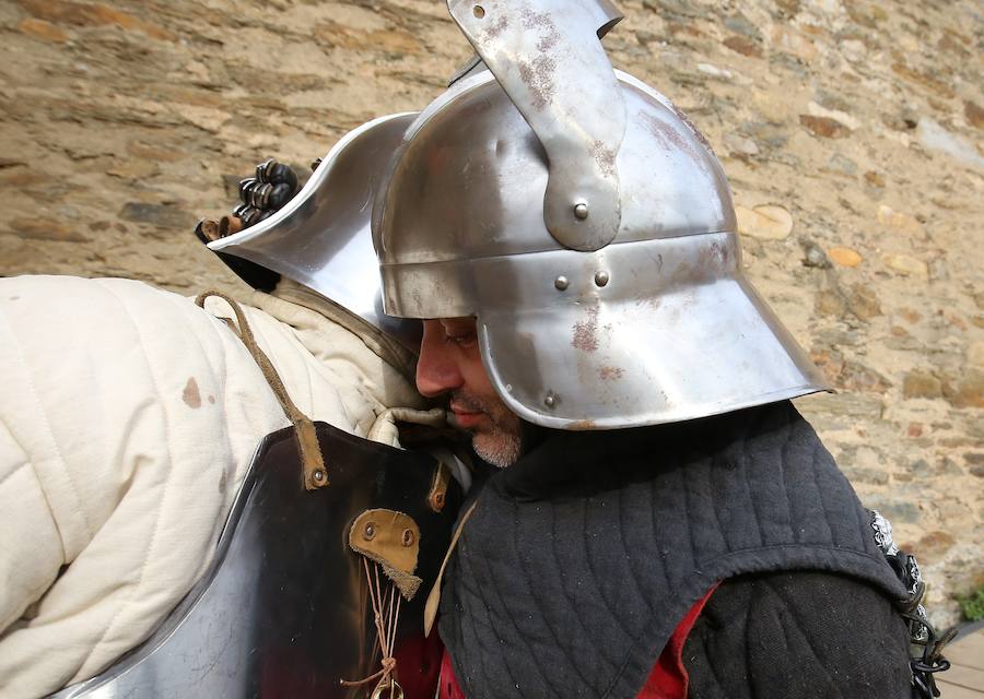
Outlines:
<svg viewBox="0 0 984 699"><path fill-rule="evenodd" d="M471 698L634 697L716 581L786 569L905 594L867 512L789 403L553 433L479 496L440 630Z"/></svg>

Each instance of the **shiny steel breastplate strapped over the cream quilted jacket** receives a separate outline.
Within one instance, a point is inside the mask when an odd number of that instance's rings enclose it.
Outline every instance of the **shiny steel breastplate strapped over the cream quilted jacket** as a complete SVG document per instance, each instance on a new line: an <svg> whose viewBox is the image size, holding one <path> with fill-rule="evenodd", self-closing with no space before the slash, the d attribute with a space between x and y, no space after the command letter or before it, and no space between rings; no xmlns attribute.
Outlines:
<svg viewBox="0 0 984 699"><path fill-rule="evenodd" d="M261 442L202 579L141 645L58 699L368 696L344 687L379 668L363 558L347 543L366 510L419 528L414 574L427 588L446 550L461 494L431 455L367 441L317 423L330 485L306 491L292 428ZM403 687L436 673L423 659L425 594L403 602L396 633ZM411 695L408 691L408 695Z"/></svg>

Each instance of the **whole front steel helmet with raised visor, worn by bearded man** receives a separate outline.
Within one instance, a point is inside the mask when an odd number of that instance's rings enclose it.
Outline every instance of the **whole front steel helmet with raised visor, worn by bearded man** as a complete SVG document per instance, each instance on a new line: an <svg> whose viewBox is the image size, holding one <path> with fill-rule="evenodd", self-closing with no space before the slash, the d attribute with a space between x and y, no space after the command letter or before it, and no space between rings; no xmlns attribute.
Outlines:
<svg viewBox="0 0 984 699"><path fill-rule="evenodd" d="M476 316L524 419L607 429L825 386L743 276L727 180L665 96L612 69L598 0L448 0L489 70L407 130L376 202L387 313Z"/></svg>

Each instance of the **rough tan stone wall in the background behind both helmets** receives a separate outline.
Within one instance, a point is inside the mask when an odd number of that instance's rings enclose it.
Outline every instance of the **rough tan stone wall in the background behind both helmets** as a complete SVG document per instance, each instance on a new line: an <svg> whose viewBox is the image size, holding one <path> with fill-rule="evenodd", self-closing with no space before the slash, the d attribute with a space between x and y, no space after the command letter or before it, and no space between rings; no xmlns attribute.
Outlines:
<svg viewBox="0 0 984 699"><path fill-rule="evenodd" d="M618 67L701 128L745 265L840 389L799 401L916 549L984 583L984 13L975 0L623 0ZM437 0L0 3L0 274L241 284L191 235L276 155L419 109L470 54Z"/></svg>

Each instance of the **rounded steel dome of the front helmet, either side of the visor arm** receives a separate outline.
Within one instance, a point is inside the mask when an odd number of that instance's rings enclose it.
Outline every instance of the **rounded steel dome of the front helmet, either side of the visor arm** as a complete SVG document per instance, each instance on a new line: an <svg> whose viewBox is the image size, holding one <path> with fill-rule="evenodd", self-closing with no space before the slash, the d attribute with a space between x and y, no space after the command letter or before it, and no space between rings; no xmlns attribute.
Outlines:
<svg viewBox="0 0 984 699"><path fill-rule="evenodd" d="M623 204L613 242L734 230L717 158L665 97L625 73L618 76L629 116L617 159ZM424 109L391 168L373 232L384 276L412 274L419 263L563 248L543 223L546 153L489 72L461 80ZM442 287L440 296L462 309L440 315L473 313L465 299L468 280L448 281L464 288ZM400 286L387 289L387 308L395 304L391 310L401 312L398 304L415 295L427 305L438 300L426 289Z"/></svg>

